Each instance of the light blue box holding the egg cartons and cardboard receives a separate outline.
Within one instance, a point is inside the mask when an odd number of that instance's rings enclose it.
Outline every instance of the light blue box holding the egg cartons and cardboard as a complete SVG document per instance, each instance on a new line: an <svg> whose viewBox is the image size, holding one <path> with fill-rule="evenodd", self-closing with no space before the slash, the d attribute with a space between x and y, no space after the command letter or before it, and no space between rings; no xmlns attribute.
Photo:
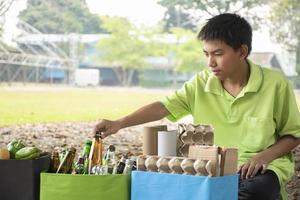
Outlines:
<svg viewBox="0 0 300 200"><path fill-rule="evenodd" d="M207 177L134 171L131 200L237 200L238 175Z"/></svg>

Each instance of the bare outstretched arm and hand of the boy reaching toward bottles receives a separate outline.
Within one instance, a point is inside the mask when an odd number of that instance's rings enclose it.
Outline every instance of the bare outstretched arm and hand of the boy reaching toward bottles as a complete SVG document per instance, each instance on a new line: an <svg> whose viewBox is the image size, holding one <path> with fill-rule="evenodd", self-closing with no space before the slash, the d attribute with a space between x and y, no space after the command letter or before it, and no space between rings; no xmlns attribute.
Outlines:
<svg viewBox="0 0 300 200"><path fill-rule="evenodd" d="M135 112L116 121L101 120L95 127L94 132L102 132L102 137L107 137L118 132L122 128L160 120L169 115L169 111L161 102L141 107Z"/></svg>

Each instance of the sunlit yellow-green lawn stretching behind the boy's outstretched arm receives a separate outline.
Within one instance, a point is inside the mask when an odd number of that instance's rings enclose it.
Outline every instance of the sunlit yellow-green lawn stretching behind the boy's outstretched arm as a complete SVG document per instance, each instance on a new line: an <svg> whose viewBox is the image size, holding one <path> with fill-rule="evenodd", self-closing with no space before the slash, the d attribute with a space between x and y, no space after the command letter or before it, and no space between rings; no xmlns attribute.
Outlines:
<svg viewBox="0 0 300 200"><path fill-rule="evenodd" d="M0 127L21 123L116 119L170 91L0 87Z"/></svg>

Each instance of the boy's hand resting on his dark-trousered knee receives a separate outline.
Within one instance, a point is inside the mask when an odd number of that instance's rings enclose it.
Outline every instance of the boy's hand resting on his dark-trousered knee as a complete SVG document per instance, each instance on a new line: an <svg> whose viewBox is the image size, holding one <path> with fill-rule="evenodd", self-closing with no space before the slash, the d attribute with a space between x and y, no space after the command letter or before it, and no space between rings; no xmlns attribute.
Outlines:
<svg viewBox="0 0 300 200"><path fill-rule="evenodd" d="M259 171L261 174L267 170L268 161L262 155L257 154L252 159L239 167L241 179L248 179L254 177Z"/></svg>

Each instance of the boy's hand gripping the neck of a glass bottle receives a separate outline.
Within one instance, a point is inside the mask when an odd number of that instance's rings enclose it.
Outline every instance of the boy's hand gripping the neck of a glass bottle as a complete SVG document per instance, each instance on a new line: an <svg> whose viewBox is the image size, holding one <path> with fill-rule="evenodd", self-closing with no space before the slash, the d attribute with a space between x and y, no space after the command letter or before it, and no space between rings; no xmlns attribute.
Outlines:
<svg viewBox="0 0 300 200"><path fill-rule="evenodd" d="M119 121L110 121L103 119L94 128L94 134L101 132L102 139L117 133L121 129L121 123Z"/></svg>

